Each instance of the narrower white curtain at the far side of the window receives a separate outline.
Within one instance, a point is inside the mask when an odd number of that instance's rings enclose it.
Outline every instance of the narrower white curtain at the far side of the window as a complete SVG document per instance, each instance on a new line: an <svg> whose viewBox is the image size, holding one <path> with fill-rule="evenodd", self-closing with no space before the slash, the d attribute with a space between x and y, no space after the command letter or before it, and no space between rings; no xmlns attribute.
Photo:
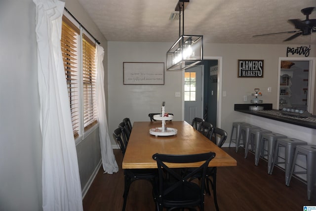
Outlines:
<svg viewBox="0 0 316 211"><path fill-rule="evenodd" d="M96 68L97 68L97 84L96 84L96 100L99 118L99 135L101 144L102 166L104 173L118 172L118 164L113 154L111 140L108 130L108 122L106 115L105 91L104 91L104 68L103 57L104 49L96 44Z"/></svg>

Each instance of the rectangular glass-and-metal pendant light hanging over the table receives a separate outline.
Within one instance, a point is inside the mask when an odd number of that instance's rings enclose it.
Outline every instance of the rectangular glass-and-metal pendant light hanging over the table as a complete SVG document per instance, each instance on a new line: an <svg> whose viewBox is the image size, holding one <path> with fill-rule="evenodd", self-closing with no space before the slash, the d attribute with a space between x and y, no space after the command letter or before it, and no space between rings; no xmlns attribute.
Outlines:
<svg viewBox="0 0 316 211"><path fill-rule="evenodd" d="M179 39L166 53L167 70L184 70L203 60L203 36L184 35L184 9L190 0L179 0L175 11L179 11ZM181 35L182 11L182 35Z"/></svg>

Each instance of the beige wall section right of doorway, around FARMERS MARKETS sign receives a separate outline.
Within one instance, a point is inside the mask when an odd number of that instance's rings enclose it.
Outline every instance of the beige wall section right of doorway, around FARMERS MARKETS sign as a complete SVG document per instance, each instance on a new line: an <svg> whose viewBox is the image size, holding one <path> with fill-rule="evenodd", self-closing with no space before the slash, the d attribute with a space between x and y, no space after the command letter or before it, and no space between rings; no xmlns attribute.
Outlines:
<svg viewBox="0 0 316 211"><path fill-rule="evenodd" d="M222 90L227 92L227 96L222 98L222 128L229 134L232 122L245 120L244 114L234 111L234 104L243 102L243 95L248 95L250 103L251 93L254 88L260 88L264 103L273 103L276 108L277 100L277 73L278 57L286 56L288 46L297 47L300 45L270 45L270 44L205 44L205 56L223 57L223 86ZM316 45L311 45L312 49ZM303 57L304 55L295 55ZM315 57L316 51L311 50L310 57ZM294 57L291 55L291 57ZM264 76L263 78L238 78L237 60L238 59L263 59ZM316 64L315 64L316 65ZM272 87L272 92L268 93L268 87Z"/></svg>

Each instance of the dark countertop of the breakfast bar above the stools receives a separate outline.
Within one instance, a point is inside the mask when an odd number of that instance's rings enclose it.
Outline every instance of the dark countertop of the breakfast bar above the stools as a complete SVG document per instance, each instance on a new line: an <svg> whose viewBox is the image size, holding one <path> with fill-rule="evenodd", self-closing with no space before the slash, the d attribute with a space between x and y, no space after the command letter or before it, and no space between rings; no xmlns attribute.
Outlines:
<svg viewBox="0 0 316 211"><path fill-rule="evenodd" d="M286 116L279 116L279 115L275 115L275 114L269 114L269 113L263 113L260 111L252 111L249 110L249 106L253 106L255 104L235 104L234 106L234 110L238 111L238 112L242 112L245 114L251 114L251 115L255 115L255 116L259 116L259 117L264 117L264 118L268 118L268 119L272 119L272 120L276 120L276 121L280 121L280 122L284 122L284 123L289 123L289 124L293 124L293 125L298 125L298 126L302 126L302 127L310 127L310 128L314 128L316 129L316 116L312 116L309 119L312 119L312 121L306 121L305 120L300 120L301 118L291 118L291 117L286 117ZM272 104L270 103L260 103L258 104L258 106L263 106L265 111L276 111L278 112L278 110L276 109L272 109ZM271 113L276 113L276 112L271 112ZM303 119L303 118L302 118Z"/></svg>

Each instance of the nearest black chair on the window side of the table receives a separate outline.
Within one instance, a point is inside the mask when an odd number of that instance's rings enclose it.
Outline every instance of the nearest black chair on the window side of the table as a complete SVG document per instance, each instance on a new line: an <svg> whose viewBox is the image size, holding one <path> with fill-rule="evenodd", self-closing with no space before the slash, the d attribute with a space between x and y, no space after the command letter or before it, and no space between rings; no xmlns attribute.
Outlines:
<svg viewBox="0 0 316 211"><path fill-rule="evenodd" d="M123 140L124 137L126 137L126 134L123 133L124 129L118 127L114 130L113 137L118 142L118 145L124 157L128 142L125 143L125 141ZM157 175L157 169L124 169L124 201L122 211L125 211L126 208L127 195L131 183L138 179L147 179L152 183L153 187L155 187Z"/></svg>

